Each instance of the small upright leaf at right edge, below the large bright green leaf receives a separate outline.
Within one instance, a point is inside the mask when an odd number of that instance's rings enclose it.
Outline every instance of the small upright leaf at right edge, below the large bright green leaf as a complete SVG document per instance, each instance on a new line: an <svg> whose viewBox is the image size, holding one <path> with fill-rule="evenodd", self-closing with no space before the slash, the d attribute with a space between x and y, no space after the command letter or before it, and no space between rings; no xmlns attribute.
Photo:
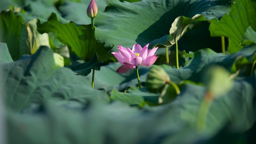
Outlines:
<svg viewBox="0 0 256 144"><path fill-rule="evenodd" d="M242 45L252 45L256 44L256 32L252 29L252 27L248 27L246 32L244 33Z"/></svg>

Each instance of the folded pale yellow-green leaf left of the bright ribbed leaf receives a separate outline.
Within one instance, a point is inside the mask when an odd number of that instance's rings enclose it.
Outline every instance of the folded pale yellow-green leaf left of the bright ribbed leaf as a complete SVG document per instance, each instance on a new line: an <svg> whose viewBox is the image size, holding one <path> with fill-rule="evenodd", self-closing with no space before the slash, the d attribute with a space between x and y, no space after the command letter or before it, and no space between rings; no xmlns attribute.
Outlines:
<svg viewBox="0 0 256 144"><path fill-rule="evenodd" d="M34 54L40 46L50 47L48 34L40 34L36 30L36 21L37 19L32 19L27 22L26 28L21 30L20 55Z"/></svg>

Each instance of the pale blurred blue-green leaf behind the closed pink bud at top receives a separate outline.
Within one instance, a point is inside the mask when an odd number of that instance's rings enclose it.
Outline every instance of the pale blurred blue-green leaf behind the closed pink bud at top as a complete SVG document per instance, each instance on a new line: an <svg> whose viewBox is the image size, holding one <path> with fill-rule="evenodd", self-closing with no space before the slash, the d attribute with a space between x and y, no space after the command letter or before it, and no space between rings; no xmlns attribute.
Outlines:
<svg viewBox="0 0 256 144"><path fill-rule="evenodd" d="M72 1L66 0L64 6L60 6L63 18L73 21L76 24L91 24L91 18L86 14L86 9L91 0ZM104 12L108 0L95 0L98 10Z"/></svg>

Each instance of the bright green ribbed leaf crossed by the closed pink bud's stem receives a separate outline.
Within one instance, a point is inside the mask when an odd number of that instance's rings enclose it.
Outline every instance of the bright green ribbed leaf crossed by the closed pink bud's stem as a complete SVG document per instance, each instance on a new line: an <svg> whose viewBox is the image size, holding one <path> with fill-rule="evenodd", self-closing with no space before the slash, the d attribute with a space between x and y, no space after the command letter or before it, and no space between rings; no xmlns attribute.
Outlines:
<svg viewBox="0 0 256 144"><path fill-rule="evenodd" d="M55 37L68 45L77 56L84 61L89 61L94 56L94 40L92 38L91 25L76 25L74 22L62 23L58 21L57 15L52 13L47 22L37 22L39 33L55 33ZM96 43L99 61L113 57L103 45Z"/></svg>

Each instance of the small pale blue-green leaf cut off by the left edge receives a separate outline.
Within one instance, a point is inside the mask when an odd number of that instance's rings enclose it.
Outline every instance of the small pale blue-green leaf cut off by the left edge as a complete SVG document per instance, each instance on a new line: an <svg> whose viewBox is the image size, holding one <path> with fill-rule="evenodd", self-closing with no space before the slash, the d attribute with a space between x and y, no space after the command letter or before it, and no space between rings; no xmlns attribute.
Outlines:
<svg viewBox="0 0 256 144"><path fill-rule="evenodd" d="M6 43L0 43L0 63L13 62Z"/></svg>

